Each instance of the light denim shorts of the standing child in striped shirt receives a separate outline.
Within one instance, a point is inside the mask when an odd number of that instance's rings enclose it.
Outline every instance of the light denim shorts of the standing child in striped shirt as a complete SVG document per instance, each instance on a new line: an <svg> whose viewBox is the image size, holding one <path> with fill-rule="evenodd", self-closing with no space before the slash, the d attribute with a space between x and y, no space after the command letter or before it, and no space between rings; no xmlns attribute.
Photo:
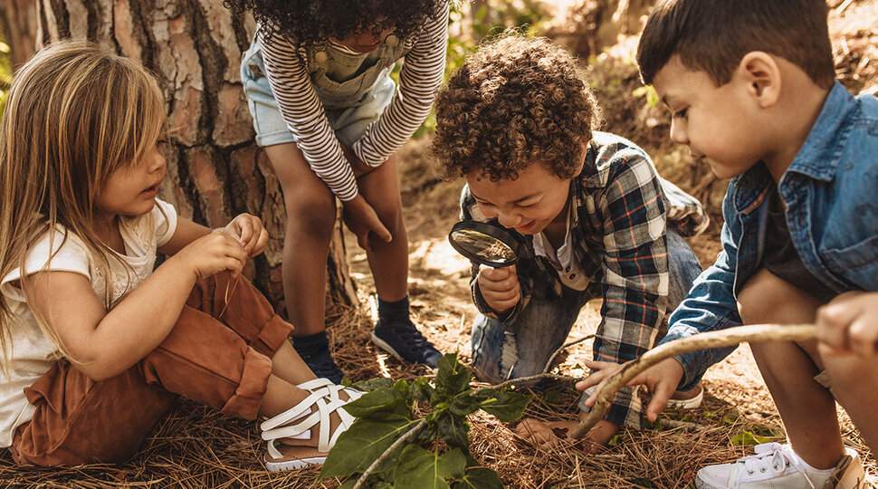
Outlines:
<svg viewBox="0 0 878 489"><path fill-rule="evenodd" d="M325 75L321 75L325 76ZM278 103L274 99L272 86L265 76L262 62L262 49L257 41L243 54L241 62L241 81L247 95L247 107L253 117L256 130L256 144L272 146L296 142L296 138L283 120ZM374 85L367 91L358 93L347 107L326 110L329 125L343 144L351 146L366 132L369 124L376 121L393 101L396 83L390 79L389 70L377 77ZM318 91L320 96L320 91ZM322 101L322 99L321 99Z"/></svg>

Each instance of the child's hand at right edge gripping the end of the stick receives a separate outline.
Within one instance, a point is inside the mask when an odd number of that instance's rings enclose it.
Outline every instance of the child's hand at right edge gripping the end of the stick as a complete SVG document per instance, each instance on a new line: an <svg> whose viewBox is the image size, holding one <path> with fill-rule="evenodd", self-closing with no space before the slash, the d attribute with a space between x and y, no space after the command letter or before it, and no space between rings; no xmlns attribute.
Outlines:
<svg viewBox="0 0 878 489"><path fill-rule="evenodd" d="M878 292L845 292L817 310L821 354L878 355Z"/></svg>

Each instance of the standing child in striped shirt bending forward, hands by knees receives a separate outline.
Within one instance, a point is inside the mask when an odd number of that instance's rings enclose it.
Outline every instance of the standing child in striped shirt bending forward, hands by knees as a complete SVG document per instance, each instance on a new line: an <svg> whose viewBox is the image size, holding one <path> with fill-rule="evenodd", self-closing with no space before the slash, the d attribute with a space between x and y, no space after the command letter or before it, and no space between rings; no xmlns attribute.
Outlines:
<svg viewBox="0 0 878 489"><path fill-rule="evenodd" d="M241 74L256 142L283 190L282 265L293 343L320 377L340 381L324 325L326 260L336 218L367 251L378 321L372 340L397 359L442 355L410 320L408 238L396 149L430 112L444 73L448 0L226 0L258 24ZM399 86L389 74L402 62Z"/></svg>

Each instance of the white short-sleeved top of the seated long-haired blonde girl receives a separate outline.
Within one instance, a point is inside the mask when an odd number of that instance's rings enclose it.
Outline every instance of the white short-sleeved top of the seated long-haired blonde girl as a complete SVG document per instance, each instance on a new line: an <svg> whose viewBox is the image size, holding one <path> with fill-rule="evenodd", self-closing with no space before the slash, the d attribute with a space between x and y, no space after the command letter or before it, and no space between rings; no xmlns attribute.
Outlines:
<svg viewBox="0 0 878 489"><path fill-rule="evenodd" d="M123 294L133 290L152 273L157 247L166 244L177 229L174 206L158 199L156 202L157 206L148 214L119 218L125 254L118 256L130 269L117 260L110 260L113 287L109 301L106 296L107 277L97 268L97 262L92 260L79 236L70 234L66 241L63 239L61 226L52 233L51 248L48 232L33 245L25 260L25 273L16 268L0 280L0 293L5 295L16 320L10 324L11 348L7 346L5 357L11 360L9 378L0 372L0 448L11 446L15 428L33 417L35 408L24 398L24 388L33 385L61 358L57 345L43 334L27 302L24 302L24 293L17 281L23 274L40 272L44 267L52 271L81 273L90 280L94 292L109 311ZM58 253L52 256L55 250Z"/></svg>

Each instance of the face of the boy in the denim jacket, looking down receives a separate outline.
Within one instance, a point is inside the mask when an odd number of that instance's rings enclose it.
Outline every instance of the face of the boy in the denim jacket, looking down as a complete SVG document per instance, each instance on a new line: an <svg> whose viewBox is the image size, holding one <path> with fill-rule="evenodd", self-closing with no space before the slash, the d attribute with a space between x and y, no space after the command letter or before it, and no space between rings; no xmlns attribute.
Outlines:
<svg viewBox="0 0 878 489"><path fill-rule="evenodd" d="M689 146L692 158L721 178L737 177L765 158L748 83L737 75L717 86L706 72L693 72L673 56L655 73L653 86L671 110L671 139Z"/></svg>

